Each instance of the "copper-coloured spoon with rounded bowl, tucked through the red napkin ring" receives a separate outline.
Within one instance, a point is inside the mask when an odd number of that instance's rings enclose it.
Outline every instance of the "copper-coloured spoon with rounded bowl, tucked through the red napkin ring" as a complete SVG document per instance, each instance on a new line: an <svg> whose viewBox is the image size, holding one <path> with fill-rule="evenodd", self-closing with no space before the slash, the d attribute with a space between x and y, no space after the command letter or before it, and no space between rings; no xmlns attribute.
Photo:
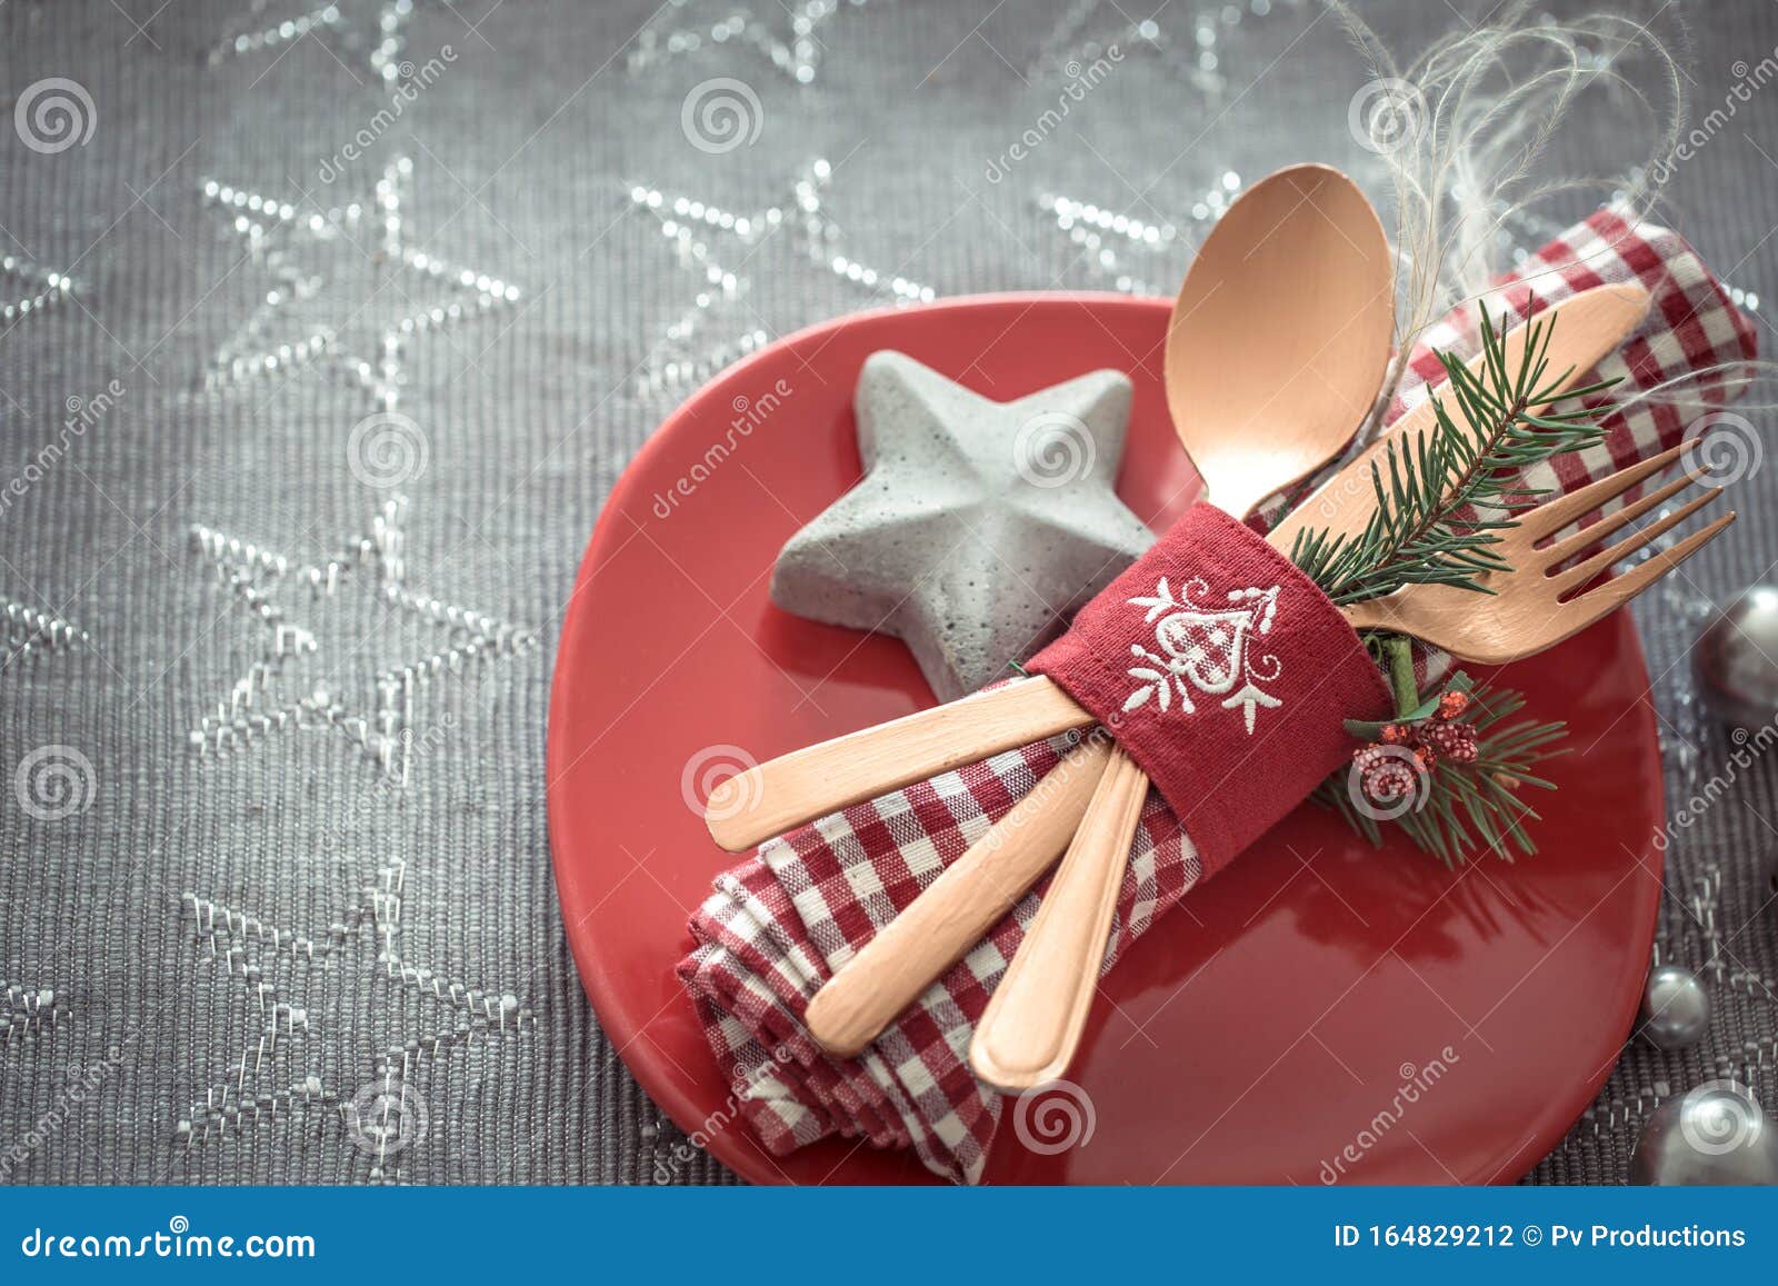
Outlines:
<svg viewBox="0 0 1778 1286"><path fill-rule="evenodd" d="M1394 317L1383 226L1339 171L1282 169L1229 208L1166 327L1166 404L1209 503L1245 518L1346 446L1383 382ZM976 1025L969 1065L987 1083L1026 1090L1074 1058L1147 790L1113 747Z"/></svg>

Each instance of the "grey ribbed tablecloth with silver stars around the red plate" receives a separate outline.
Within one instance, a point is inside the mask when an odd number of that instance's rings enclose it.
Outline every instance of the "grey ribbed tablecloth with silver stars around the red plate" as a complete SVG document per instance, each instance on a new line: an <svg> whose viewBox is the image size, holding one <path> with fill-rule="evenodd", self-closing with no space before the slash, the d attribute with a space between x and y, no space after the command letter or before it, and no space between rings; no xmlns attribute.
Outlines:
<svg viewBox="0 0 1778 1286"><path fill-rule="evenodd" d="M542 808L564 601L603 496L681 395L640 390L638 377L658 368L661 329L697 288L658 222L629 210L629 187L752 210L788 199L798 167L827 157L823 213L841 229L836 245L864 263L941 293L1106 286L1037 208L1040 192L1061 192L1177 221L1181 247L1134 263L1170 292L1198 228L1191 206L1227 171L1325 158L1376 178L1346 128L1367 76L1316 5L1287 0L1227 11L1173 0L1154 16L1159 52L1129 37L1147 5L1122 18L1079 0L841 4L818 27L809 85L745 41L711 46L731 5L701 0L660 12L418 0L411 16L338 0L341 21L322 36L206 57L306 4L0 0L0 254L75 281L73 301L0 324L0 475L20 484L0 509L0 598L18 621L50 612L89 633L84 647L39 647L0 672L0 1177L651 1181L677 1135L585 1003ZM1478 12L1360 9L1403 53ZM1700 116L1742 75L1737 62L1778 46L1766 0L1671 9L1693 23ZM370 69L382 12L405 41L398 57L416 75L439 69L398 114ZM775 0L759 14L789 30ZM626 50L651 21L660 57L633 66ZM1198 43L1200 23L1214 43ZM672 50L667 34L681 27L702 28L702 46ZM1125 41L1129 53L1029 158L989 181L989 158L1054 105L1086 41ZM34 149L14 103L55 76L91 100L89 112L75 100L91 137ZM688 91L713 76L759 100L759 137L722 155L681 130ZM1623 119L1595 112L1558 142L1556 162L1595 169L1627 155ZM1778 297L1774 125L1767 85L1670 187L1670 219L1734 285L1766 297ZM364 157L343 158L359 132L372 135ZM398 155L412 160L404 235L525 292L402 358L398 409L420 429L425 471L402 486L400 546L382 550L405 557L402 583L446 619L382 607L388 557L359 562L331 596L295 576L268 582L316 651L274 676L254 713L324 688L341 722L315 727L322 717L302 713L300 727L197 756L188 735L265 662L270 631L194 546L194 525L325 564L372 532L382 498L352 448L375 402L336 365L204 388L268 276L203 201L203 181L302 212L343 208L368 201ZM352 245L299 258L325 281L284 309L288 333L327 324L341 350L372 361L382 327L441 299ZM782 247L745 272L745 304L711 318L688 354L871 302ZM32 293L16 285L0 279L5 301ZM1769 345L1771 308L1757 317ZM1691 719L1686 647L1709 596L1771 578L1774 487L1767 461L1742 484L1732 539L1693 566L1694 589L1641 610L1675 792L1687 745L1703 776L1728 747ZM523 626L537 646L459 655L461 672L430 679L409 784L389 790L352 719L379 706L377 674L475 635L475 619L466 633L450 608ZM73 777L57 777L57 763ZM21 777L46 792L34 811ZM1536 1179L1620 1181L1646 1110L1712 1076L1739 1074L1778 1099L1767 982L1778 914L1760 882L1778 854L1774 816L1767 763L1673 847L1662 955L1716 960L1710 1037L1678 1055L1632 1046ZM345 1105L361 1087L370 1103L393 1078L407 1087L402 1119L423 1113L425 1128L379 1165L354 1144ZM708 1161L676 1177L729 1181Z"/></svg>

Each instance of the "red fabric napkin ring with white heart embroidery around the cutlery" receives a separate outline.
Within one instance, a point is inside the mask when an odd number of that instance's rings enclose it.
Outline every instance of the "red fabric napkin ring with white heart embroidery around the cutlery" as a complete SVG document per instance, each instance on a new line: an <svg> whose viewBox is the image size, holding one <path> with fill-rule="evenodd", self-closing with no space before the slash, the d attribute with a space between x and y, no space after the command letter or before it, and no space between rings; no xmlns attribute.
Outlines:
<svg viewBox="0 0 1778 1286"><path fill-rule="evenodd" d="M1264 537L1198 505L1031 658L1111 729L1214 873L1394 708L1334 601Z"/></svg>

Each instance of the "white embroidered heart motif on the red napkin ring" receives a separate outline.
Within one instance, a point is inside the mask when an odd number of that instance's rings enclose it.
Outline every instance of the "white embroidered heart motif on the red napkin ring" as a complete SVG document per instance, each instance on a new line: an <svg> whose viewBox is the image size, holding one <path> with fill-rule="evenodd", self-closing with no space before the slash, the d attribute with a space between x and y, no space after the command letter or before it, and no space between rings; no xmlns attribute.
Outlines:
<svg viewBox="0 0 1778 1286"><path fill-rule="evenodd" d="M1175 596L1163 576L1152 596L1129 599L1133 607L1147 610L1143 623L1154 626L1154 646L1159 651L1131 644L1129 651L1136 663L1129 667L1129 676L1140 679L1141 687L1129 694L1124 710L1138 710L1149 701L1163 711L1172 710L1177 695L1181 711L1191 715L1197 713L1191 703L1191 694L1197 690L1225 697L1223 710L1241 706L1252 736L1253 711L1259 706L1273 710L1280 704L1259 685L1273 683L1284 665L1273 653L1259 656L1250 653L1253 639L1271 633L1271 619L1278 610L1278 587L1232 589L1229 607L1205 605L1209 592L1205 582L1191 580Z"/></svg>

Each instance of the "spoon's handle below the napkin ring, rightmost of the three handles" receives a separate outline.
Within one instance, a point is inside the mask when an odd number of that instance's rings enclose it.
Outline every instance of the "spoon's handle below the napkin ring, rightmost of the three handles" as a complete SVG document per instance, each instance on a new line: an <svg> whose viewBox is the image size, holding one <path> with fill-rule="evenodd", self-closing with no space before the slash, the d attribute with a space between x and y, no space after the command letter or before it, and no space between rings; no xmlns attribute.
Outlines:
<svg viewBox="0 0 1778 1286"><path fill-rule="evenodd" d="M976 1025L969 1067L989 1085L1028 1090L1069 1069L1147 795L1147 774L1111 751L1049 895Z"/></svg>

